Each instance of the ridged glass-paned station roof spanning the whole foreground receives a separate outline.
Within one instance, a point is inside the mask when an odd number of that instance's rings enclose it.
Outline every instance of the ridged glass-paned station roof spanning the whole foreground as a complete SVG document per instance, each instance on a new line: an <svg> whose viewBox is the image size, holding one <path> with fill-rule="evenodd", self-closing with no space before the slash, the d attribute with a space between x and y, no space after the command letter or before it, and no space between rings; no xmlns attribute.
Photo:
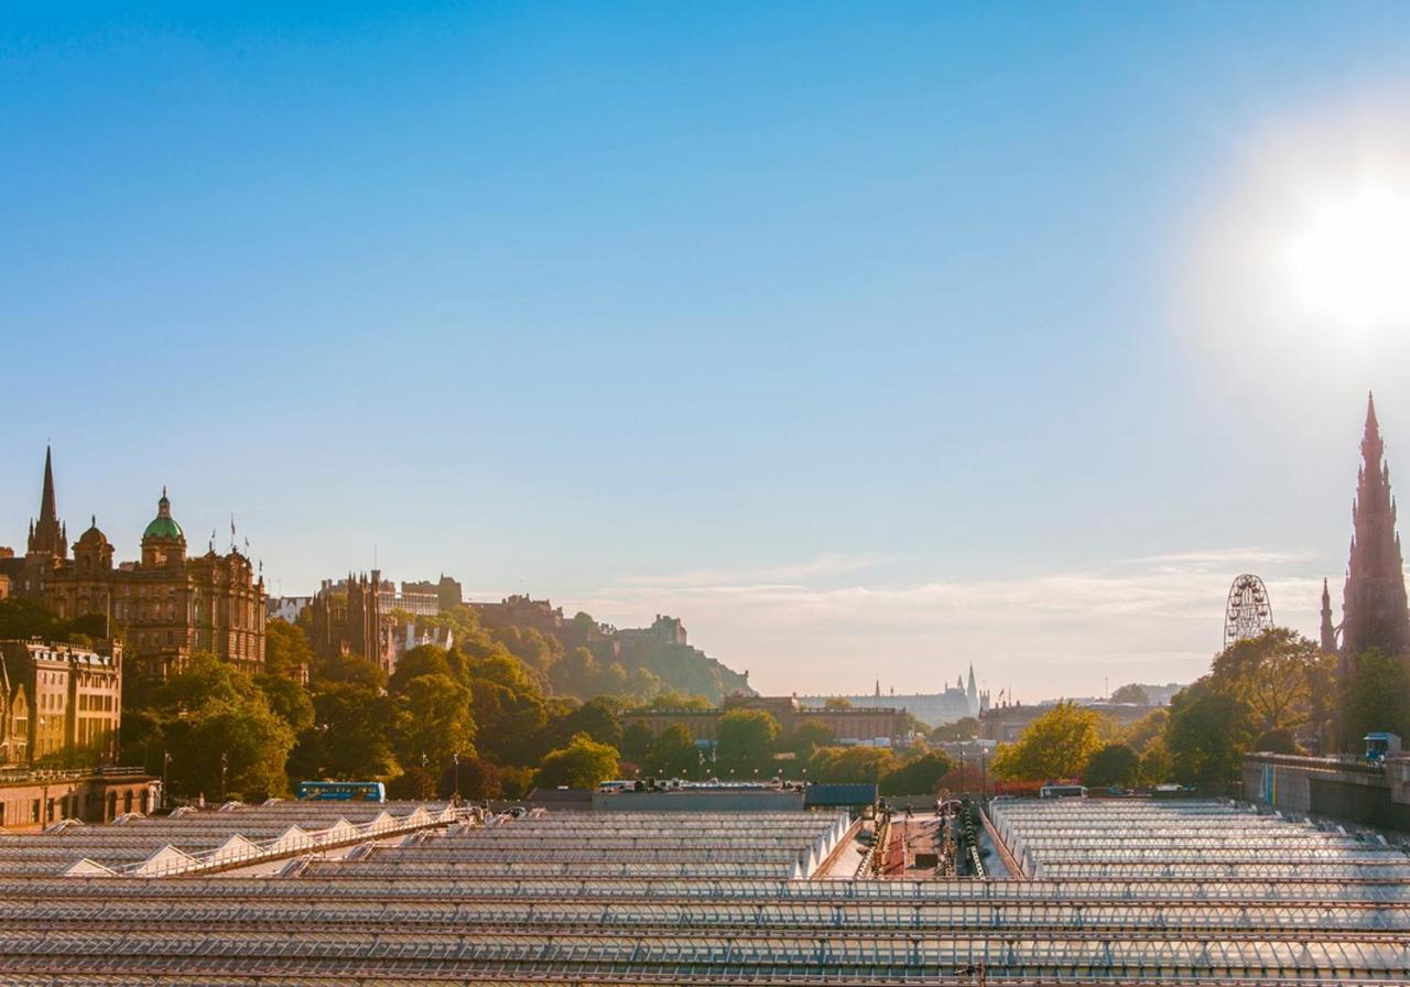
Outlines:
<svg viewBox="0 0 1410 987"><path fill-rule="evenodd" d="M0 836L0 980L1410 980L1410 857L1373 835L1194 799L863 815L274 802L61 823Z"/></svg>

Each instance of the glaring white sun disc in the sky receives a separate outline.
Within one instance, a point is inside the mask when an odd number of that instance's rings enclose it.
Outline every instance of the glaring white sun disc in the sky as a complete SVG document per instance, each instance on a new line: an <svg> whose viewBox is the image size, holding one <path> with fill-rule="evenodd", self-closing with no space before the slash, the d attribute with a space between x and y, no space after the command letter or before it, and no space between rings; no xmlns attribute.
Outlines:
<svg viewBox="0 0 1410 987"><path fill-rule="evenodd" d="M1410 327L1410 183L1307 199L1276 251L1287 300L1328 329Z"/></svg>

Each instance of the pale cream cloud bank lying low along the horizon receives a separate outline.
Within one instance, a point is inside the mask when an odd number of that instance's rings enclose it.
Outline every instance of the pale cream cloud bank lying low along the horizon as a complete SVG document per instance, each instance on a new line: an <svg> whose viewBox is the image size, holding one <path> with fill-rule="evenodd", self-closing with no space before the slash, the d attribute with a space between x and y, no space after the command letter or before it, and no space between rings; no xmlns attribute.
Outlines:
<svg viewBox="0 0 1410 987"><path fill-rule="evenodd" d="M1107 680L1187 681L1208 667L1224 601L1239 572L1259 571L1280 623L1316 629L1321 580L1306 551L1182 551L1083 571L983 580L883 582L883 556L823 556L767 568L625 580L572 601L630 625L681 616L692 643L756 688L862 689L876 675L931 689L974 663L1025 699L1100 692ZM718 578L709 578L718 577Z"/></svg>

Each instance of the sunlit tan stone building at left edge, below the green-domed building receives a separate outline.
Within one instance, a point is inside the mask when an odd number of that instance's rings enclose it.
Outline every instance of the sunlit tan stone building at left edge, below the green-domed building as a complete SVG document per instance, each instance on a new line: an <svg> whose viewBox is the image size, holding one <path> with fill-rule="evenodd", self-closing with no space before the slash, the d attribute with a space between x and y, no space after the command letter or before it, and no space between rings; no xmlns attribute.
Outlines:
<svg viewBox="0 0 1410 987"><path fill-rule="evenodd" d="M0 764L111 764L121 723L121 644L0 642Z"/></svg>

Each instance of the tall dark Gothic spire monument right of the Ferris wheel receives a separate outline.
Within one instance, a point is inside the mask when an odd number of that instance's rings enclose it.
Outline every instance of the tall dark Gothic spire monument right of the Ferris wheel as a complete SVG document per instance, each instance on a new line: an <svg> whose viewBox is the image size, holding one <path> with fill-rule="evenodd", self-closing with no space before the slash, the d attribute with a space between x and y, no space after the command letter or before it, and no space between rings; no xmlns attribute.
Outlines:
<svg viewBox="0 0 1410 987"><path fill-rule="evenodd" d="M1366 431L1361 440L1362 465L1351 508L1351 560L1341 598L1342 673L1368 647L1379 647L1386 654L1400 654L1410 647L1396 502L1390 496L1390 467L1380 461L1383 453L1376 405L1368 398Z"/></svg>

